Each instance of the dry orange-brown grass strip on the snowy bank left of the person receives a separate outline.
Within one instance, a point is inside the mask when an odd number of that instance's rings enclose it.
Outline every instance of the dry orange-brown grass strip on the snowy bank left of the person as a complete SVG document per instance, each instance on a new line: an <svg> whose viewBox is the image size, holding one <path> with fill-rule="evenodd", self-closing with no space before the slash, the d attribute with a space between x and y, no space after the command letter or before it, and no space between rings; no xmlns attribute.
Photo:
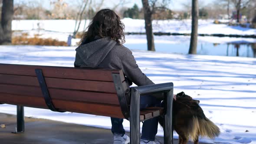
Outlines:
<svg viewBox="0 0 256 144"><path fill-rule="evenodd" d="M27 37L27 33L22 33L21 36L15 36L12 38L13 45L39 45L39 46L68 46L66 42L56 39L43 39L35 35L32 38Z"/></svg>

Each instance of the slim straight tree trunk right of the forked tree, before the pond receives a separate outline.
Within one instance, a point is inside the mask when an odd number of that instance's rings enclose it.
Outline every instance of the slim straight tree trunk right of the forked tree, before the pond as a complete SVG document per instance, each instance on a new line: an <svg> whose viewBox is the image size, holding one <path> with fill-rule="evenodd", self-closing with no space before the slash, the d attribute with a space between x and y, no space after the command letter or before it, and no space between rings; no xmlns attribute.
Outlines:
<svg viewBox="0 0 256 144"><path fill-rule="evenodd" d="M192 26L189 54L197 54L198 0L192 0Z"/></svg>

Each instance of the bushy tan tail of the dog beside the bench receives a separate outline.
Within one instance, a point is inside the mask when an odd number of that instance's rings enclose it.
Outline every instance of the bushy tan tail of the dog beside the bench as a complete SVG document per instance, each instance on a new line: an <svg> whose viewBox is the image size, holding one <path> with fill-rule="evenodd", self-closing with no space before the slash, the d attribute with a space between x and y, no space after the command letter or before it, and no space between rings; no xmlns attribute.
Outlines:
<svg viewBox="0 0 256 144"><path fill-rule="evenodd" d="M198 126L196 124L196 127L198 128L197 132L199 132L201 137L209 137L213 139L220 134L220 128L206 117L205 119L193 118L193 123L199 124Z"/></svg>

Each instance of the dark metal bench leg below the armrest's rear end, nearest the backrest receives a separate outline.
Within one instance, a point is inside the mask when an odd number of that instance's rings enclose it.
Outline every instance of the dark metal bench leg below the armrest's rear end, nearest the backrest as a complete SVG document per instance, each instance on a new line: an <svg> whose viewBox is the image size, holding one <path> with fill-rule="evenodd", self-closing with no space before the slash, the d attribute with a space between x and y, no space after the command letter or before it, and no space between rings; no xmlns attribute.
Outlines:
<svg viewBox="0 0 256 144"><path fill-rule="evenodd" d="M131 88L130 144L140 144L140 94Z"/></svg>

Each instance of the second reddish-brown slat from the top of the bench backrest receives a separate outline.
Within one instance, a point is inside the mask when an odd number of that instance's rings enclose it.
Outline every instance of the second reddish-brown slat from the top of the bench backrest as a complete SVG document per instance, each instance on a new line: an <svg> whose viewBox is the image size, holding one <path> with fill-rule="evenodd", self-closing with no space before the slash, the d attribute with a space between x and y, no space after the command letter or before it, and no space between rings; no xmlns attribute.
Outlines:
<svg viewBox="0 0 256 144"><path fill-rule="evenodd" d="M45 77L45 81L48 88L66 88L85 91L116 93L115 85L113 82L100 82L78 79L59 79L47 77ZM38 79L35 76L0 74L0 83L15 85L31 85L39 87Z"/></svg>

